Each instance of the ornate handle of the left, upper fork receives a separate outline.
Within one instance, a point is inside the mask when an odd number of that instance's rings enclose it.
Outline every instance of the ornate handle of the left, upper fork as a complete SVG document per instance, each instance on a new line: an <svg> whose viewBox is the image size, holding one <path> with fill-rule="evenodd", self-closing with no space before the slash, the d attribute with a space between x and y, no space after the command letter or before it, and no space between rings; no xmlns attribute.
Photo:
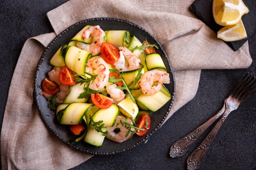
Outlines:
<svg viewBox="0 0 256 170"><path fill-rule="evenodd" d="M226 105L224 104L222 109L212 118L210 118L207 122L199 126L193 132L174 142L170 148L170 156L175 158L184 155L191 146L191 144L196 139L198 139L198 137L224 113L225 109Z"/></svg>

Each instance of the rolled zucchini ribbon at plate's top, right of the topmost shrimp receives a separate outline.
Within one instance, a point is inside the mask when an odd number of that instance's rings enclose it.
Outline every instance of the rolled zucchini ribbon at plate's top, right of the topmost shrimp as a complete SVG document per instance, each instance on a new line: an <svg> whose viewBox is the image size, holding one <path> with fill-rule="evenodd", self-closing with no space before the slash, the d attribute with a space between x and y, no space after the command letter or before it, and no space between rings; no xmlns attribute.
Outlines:
<svg viewBox="0 0 256 170"><path fill-rule="evenodd" d="M128 47L130 32L124 30L111 30L106 32L106 42L118 47Z"/></svg>

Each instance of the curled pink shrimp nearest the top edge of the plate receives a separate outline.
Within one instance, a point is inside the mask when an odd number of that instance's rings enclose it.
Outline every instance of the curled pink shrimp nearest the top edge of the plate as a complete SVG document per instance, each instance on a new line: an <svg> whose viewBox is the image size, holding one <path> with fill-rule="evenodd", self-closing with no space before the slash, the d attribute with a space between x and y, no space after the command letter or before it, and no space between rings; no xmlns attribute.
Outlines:
<svg viewBox="0 0 256 170"><path fill-rule="evenodd" d="M82 37L84 40L87 40L90 35L93 36L92 44L77 43L76 46L85 51L91 52L92 56L95 56L101 52L101 44L105 37L105 32L98 25L90 26L83 32Z"/></svg>

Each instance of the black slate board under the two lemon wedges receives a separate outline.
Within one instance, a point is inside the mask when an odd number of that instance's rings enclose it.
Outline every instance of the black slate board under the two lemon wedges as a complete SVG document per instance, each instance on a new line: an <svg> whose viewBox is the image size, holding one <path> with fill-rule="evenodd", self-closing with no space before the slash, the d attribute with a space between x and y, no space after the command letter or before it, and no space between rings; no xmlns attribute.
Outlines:
<svg viewBox="0 0 256 170"><path fill-rule="evenodd" d="M231 41L225 43L234 51L237 51L243 44L256 32L256 0L243 0L249 9L249 13L243 15L242 21L245 26L247 38L239 41ZM209 26L215 33L217 33L222 26L216 24L212 14L213 0L195 0L189 7L202 22ZM216 35L217 36L217 35Z"/></svg>

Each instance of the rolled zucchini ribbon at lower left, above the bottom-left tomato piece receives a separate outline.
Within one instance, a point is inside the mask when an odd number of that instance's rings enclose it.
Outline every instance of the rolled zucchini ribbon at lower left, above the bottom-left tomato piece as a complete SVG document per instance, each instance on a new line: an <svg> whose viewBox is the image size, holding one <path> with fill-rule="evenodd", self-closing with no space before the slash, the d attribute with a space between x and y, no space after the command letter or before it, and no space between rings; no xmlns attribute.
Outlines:
<svg viewBox="0 0 256 170"><path fill-rule="evenodd" d="M81 124L84 114L93 106L90 103L72 103L58 113L60 124Z"/></svg>

